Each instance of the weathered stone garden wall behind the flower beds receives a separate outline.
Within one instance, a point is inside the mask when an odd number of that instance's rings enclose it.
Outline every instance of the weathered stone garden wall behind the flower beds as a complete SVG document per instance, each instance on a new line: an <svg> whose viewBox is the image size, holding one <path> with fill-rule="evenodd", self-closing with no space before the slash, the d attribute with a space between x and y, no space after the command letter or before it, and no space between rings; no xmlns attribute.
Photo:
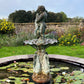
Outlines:
<svg viewBox="0 0 84 84"><path fill-rule="evenodd" d="M79 24L71 23L46 23L47 29L53 29L56 31L68 31L70 28L78 28ZM34 32L34 23L15 23L15 32Z"/></svg>

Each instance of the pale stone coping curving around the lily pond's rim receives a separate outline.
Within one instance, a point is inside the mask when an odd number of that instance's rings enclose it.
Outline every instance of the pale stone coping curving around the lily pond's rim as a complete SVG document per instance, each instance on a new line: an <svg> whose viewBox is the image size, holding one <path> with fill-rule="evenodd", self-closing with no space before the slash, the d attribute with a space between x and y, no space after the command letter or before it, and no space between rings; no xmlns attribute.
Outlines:
<svg viewBox="0 0 84 84"><path fill-rule="evenodd" d="M48 56L49 56L49 58L54 58L57 60L61 60L64 62L68 62L71 64L76 64L76 65L79 65L81 67L84 67L84 59L83 58L65 56L65 55L55 55L55 54L49 54ZM7 63L7 62L10 62L10 61L26 60L29 58L33 58L33 54L4 57L4 58L0 58L0 65Z"/></svg>

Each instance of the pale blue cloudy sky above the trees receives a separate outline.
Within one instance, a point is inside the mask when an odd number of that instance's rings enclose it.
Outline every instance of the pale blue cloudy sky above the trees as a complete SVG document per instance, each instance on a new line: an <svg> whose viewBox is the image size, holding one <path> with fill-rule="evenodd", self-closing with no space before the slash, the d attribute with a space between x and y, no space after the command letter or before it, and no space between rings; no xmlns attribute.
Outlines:
<svg viewBox="0 0 84 84"><path fill-rule="evenodd" d="M47 11L63 11L70 18L84 17L84 0L0 0L0 19L8 18L16 10L36 10L40 5Z"/></svg>

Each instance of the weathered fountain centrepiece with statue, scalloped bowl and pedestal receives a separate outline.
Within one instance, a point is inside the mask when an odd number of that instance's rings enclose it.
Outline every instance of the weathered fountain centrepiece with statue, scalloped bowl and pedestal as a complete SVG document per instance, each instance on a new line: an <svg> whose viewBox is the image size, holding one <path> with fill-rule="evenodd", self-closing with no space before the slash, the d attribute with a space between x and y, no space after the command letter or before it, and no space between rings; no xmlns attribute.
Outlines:
<svg viewBox="0 0 84 84"><path fill-rule="evenodd" d="M47 18L45 7L39 6L37 12L34 32L37 39L24 41L24 43L37 49L33 58L32 79L37 83L45 83L51 79L49 57L45 49L51 45L57 44L57 40L45 38L45 21Z"/></svg>

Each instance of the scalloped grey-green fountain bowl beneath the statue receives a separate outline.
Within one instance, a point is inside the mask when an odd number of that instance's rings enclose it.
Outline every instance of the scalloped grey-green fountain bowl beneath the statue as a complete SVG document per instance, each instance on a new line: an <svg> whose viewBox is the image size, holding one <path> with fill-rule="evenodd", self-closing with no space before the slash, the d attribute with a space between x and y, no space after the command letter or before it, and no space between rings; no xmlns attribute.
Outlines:
<svg viewBox="0 0 84 84"><path fill-rule="evenodd" d="M57 44L57 40L56 39L33 39L33 40L26 40L24 41L25 45L30 45L35 49L39 49L39 47L41 47L41 49L46 49L49 46L53 46Z"/></svg>

